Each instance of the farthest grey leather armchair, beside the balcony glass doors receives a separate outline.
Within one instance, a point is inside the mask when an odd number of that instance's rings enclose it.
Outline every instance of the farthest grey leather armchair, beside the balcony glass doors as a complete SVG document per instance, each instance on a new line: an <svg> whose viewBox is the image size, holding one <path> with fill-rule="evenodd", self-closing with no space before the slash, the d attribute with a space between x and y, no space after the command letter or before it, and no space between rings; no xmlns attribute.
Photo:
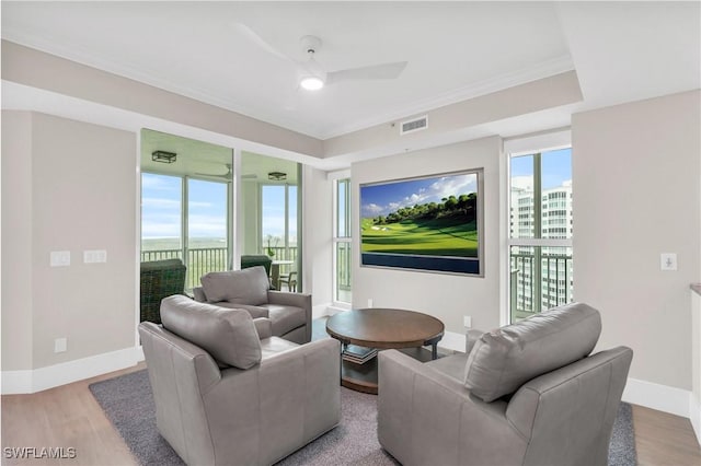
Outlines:
<svg viewBox="0 0 701 466"><path fill-rule="evenodd" d="M311 341L311 295L272 290L263 267L209 272L200 281L193 289L195 301L246 310L253 318L269 318L276 337Z"/></svg>

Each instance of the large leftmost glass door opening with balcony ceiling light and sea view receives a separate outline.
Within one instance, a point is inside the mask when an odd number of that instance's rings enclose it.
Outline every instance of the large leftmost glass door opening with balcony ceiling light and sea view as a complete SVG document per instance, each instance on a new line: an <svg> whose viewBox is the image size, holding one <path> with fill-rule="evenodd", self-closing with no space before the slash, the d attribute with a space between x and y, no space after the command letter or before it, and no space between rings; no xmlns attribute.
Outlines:
<svg viewBox="0 0 701 466"><path fill-rule="evenodd" d="M162 149L172 162L153 158ZM230 267L232 163L230 148L141 130L141 261L180 258L186 290Z"/></svg>

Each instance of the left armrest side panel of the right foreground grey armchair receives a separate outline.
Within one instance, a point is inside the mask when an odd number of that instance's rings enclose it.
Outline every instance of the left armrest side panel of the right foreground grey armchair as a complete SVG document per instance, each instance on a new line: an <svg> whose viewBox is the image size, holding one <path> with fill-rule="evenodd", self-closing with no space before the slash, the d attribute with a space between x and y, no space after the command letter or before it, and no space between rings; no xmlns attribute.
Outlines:
<svg viewBox="0 0 701 466"><path fill-rule="evenodd" d="M378 440L400 463L519 464L512 455L526 442L507 421L505 401L476 399L462 381L397 350L378 358Z"/></svg>

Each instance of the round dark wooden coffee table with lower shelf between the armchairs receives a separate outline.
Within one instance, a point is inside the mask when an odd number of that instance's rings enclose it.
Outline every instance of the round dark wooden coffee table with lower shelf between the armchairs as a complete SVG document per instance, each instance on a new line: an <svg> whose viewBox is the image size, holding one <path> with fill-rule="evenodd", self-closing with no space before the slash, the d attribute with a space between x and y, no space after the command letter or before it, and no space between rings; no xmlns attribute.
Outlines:
<svg viewBox="0 0 701 466"><path fill-rule="evenodd" d="M326 333L343 343L342 350L346 345L393 348L420 361L436 359L444 329L443 322L427 314L379 307L346 311L326 321ZM424 346L430 346L432 351ZM364 364L342 360L341 366L343 386L377 394L377 358Z"/></svg>

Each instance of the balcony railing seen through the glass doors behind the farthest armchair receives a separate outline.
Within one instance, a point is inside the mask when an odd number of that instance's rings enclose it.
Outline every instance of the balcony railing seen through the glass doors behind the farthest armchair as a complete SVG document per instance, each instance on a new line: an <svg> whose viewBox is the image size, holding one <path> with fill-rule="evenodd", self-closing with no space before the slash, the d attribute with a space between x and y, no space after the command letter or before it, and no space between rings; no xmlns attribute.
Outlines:
<svg viewBox="0 0 701 466"><path fill-rule="evenodd" d="M273 247L275 255L273 260L297 260L297 247ZM266 254L261 252L260 254ZM158 249L158 251L142 251L141 261L147 263L151 260L162 259L181 259L183 256L182 249ZM221 271L229 268L228 253L226 247L205 247L187 249L187 276L185 280L185 290L192 290L194 287L199 287L199 278L210 271ZM291 266L284 265L280 267L280 271L287 272L291 269Z"/></svg>

